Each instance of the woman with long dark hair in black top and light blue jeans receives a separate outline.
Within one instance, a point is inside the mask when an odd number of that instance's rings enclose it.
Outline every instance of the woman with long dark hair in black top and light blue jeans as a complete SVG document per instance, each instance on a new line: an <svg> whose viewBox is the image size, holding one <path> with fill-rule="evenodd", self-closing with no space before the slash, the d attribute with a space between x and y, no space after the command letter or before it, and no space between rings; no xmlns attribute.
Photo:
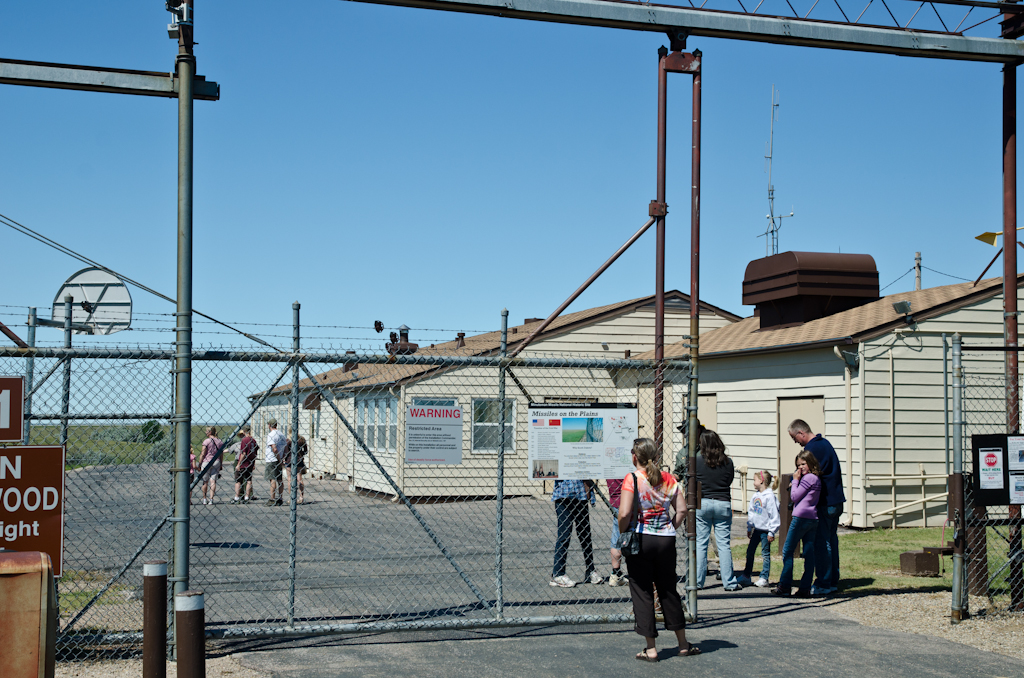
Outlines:
<svg viewBox="0 0 1024 678"><path fill-rule="evenodd" d="M718 433L706 429L700 434L700 454L696 458L697 482L700 483L700 507L697 509L697 581L703 588L708 576L708 541L715 529L718 566L726 591L738 591L739 583L732 573L732 478L736 474L732 460L725 454L725 443Z"/></svg>

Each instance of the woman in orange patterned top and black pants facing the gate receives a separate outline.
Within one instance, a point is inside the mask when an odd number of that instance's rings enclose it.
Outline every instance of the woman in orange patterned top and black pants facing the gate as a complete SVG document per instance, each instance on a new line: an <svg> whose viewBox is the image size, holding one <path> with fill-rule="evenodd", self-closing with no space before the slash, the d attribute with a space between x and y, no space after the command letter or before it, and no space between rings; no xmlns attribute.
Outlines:
<svg viewBox="0 0 1024 678"><path fill-rule="evenodd" d="M654 640L654 588L662 599L665 628L676 634L679 654L699 654L700 648L686 640L686 620L676 590L676 528L686 516L683 493L674 475L658 468L658 454L650 438L633 441L633 466L636 472L623 478L620 495L618 529L636 533L639 553L626 555L630 570L630 597L636 632L647 641L637 653L642 662L657 662ZM634 499L637 501L634 511ZM670 507L672 513L670 513Z"/></svg>

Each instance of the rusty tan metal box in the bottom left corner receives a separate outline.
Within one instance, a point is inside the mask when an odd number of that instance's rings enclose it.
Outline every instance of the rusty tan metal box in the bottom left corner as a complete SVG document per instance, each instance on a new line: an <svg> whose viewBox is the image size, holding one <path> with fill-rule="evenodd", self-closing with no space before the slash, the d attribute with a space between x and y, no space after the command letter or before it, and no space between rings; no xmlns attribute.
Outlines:
<svg viewBox="0 0 1024 678"><path fill-rule="evenodd" d="M56 622L50 557L0 551L0 674L52 678Z"/></svg>

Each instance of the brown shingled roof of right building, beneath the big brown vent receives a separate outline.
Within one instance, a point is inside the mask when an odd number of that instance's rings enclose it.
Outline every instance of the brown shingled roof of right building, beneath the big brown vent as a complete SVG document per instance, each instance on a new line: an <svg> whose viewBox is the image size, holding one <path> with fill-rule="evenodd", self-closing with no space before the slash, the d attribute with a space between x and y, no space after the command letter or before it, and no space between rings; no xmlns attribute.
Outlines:
<svg viewBox="0 0 1024 678"><path fill-rule="evenodd" d="M1018 279L1020 286L1022 279ZM833 315L826 315L796 327L761 330L761 320L751 316L700 335L700 357L710 358L744 352L794 350L819 343L858 343L904 326L903 315L893 310L894 301L910 302L911 315L916 321L947 313L950 310L993 297L1002 291L1002 279L990 278L977 287L958 283L926 290L900 292L882 297ZM689 355L684 342L665 347L666 357ZM651 359L653 351L636 356Z"/></svg>

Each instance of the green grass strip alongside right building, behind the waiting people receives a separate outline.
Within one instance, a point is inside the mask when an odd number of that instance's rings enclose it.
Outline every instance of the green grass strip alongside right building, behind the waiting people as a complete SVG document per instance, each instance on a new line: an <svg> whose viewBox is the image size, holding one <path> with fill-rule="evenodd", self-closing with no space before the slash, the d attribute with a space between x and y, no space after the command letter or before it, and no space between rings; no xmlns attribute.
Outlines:
<svg viewBox="0 0 1024 678"><path fill-rule="evenodd" d="M926 546L939 546L942 539L941 527L903 527L899 529L869 529L839 536L840 588L848 593L880 593L889 591L950 590L952 587L952 564L943 558L944 574L941 577L910 577L899 569L899 554L904 551L920 551ZM952 539L946 529L946 541ZM782 571L782 545L772 544L772 582L777 581ZM732 547L732 560L738 570L746 559L746 540ZM761 553L754 560L754 574L761 566ZM800 579L804 564L800 558L794 565L794 577Z"/></svg>

